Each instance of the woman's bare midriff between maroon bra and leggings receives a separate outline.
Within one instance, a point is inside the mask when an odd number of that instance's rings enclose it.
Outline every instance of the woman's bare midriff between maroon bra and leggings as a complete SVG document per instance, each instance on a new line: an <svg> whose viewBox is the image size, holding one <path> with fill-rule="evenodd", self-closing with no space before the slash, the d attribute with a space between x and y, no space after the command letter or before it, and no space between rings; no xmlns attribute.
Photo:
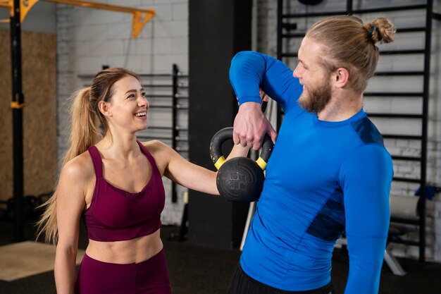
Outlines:
<svg viewBox="0 0 441 294"><path fill-rule="evenodd" d="M86 254L100 262L133 264L144 262L163 248L160 229L139 238L115 242L99 242L89 239Z"/></svg>

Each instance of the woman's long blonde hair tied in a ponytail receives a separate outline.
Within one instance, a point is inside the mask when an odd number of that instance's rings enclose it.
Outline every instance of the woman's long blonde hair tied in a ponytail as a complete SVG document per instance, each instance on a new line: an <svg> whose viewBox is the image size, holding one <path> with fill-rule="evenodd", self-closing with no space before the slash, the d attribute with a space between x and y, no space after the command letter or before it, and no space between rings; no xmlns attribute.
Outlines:
<svg viewBox="0 0 441 294"><path fill-rule="evenodd" d="M102 134L108 133L106 118L99 111L98 104L101 101L111 102L113 84L128 75L132 75L139 80L136 73L125 68L108 68L99 71L94 76L90 87L78 90L70 97L69 101L72 104L70 106L69 148L63 157L63 166L85 152L90 146L96 144L101 139ZM109 135L111 134L109 133ZM54 244L58 240L56 196L57 190L55 189L49 200L42 204L41 207L44 212L37 222L37 238L44 233L44 240Z"/></svg>

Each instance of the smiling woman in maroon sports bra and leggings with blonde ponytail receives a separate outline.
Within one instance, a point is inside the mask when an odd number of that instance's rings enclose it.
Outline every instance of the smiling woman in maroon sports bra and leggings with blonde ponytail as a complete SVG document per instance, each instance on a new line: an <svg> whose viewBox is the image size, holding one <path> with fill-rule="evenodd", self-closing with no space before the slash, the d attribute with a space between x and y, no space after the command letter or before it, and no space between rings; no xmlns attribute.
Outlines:
<svg viewBox="0 0 441 294"><path fill-rule="evenodd" d="M136 132L149 125L148 109L139 78L123 68L100 71L91 87L74 95L70 147L39 221L40 233L57 243L59 294L171 293L159 234L161 177L218 195L216 173L163 142L137 141ZM230 157L246 153L235 147ZM89 245L75 278L80 218Z"/></svg>

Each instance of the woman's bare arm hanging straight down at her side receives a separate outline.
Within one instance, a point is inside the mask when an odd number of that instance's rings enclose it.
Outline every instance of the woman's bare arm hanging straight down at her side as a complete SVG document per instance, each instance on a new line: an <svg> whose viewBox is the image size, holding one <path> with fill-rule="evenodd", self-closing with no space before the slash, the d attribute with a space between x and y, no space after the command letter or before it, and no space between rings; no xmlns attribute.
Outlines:
<svg viewBox="0 0 441 294"><path fill-rule="evenodd" d="M85 207L87 173L79 160L66 164L56 189L58 243L55 256L55 283L58 294L73 294L80 216Z"/></svg>

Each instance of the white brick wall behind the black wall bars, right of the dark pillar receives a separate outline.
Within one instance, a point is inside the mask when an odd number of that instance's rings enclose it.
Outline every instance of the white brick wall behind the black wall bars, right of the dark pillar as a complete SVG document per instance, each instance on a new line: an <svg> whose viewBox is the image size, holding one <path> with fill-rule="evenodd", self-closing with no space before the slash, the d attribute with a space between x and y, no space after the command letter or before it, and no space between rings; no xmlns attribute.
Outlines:
<svg viewBox="0 0 441 294"><path fill-rule="evenodd" d="M360 8L374 8L391 6L404 6L413 4L423 4L423 0L390 0L385 3L383 0L359 0L353 1L353 9ZM434 11L440 11L440 1L435 2ZM256 11L258 16L256 19L257 27L257 51L276 56L276 36L277 36L277 1L272 0L256 0ZM346 9L346 1L343 0L325 0L317 6L305 6L299 1L284 1L285 11L292 13L304 13L313 11L344 11ZM365 21L373 20L378 16L386 16L390 18L398 27L412 27L424 25L426 18L423 11L402 11L398 13L378 13L373 15L361 16ZM299 31L305 31L318 18L290 20L290 23L297 23ZM438 20L433 20L433 45L432 45L432 67L430 78L430 106L429 114L430 121L428 123L428 169L427 181L429 185L441 185L441 103L440 103L440 67L441 59L439 52L441 51L441 24ZM290 39L289 42L283 42L285 48L290 48L290 51L297 51L300 45L299 39ZM385 47L388 50L392 49L418 49L424 46L423 34L419 32L397 34L395 42L392 44L380 45L380 49ZM287 51L285 49L285 51ZM296 61L290 59L286 61L288 66L294 68ZM423 70L423 56L421 55L403 55L403 56L381 56L378 64L378 71L422 71ZM376 92L387 92L390 90L390 85L399 87L400 92L416 92L423 89L422 78L415 77L391 77L387 78L387 82L381 78L372 78L368 85L369 90ZM411 98L387 98L387 97L366 97L364 102L364 109L368 112L390 112L390 113L409 113L421 114L421 99ZM421 135L421 121L418 120L391 120L387 118L374 118L374 123L378 126L381 132L391 134L414 134ZM404 156L420 156L421 142L415 140L385 140L385 145L389 152L394 155ZM395 161L394 162L395 176L418 178L420 173L419 164L409 161ZM414 195L418 184L414 183L392 183L392 191L394 195ZM411 196L414 197L414 196ZM433 211L434 204L437 204L437 213ZM426 257L429 260L441 262L441 200L437 195L435 203L428 202L427 219L427 249ZM414 227L414 231L417 227ZM411 237L418 240L418 232L411 233ZM418 247L406 247L403 245L396 245L394 253L399 256L418 257Z"/></svg>

